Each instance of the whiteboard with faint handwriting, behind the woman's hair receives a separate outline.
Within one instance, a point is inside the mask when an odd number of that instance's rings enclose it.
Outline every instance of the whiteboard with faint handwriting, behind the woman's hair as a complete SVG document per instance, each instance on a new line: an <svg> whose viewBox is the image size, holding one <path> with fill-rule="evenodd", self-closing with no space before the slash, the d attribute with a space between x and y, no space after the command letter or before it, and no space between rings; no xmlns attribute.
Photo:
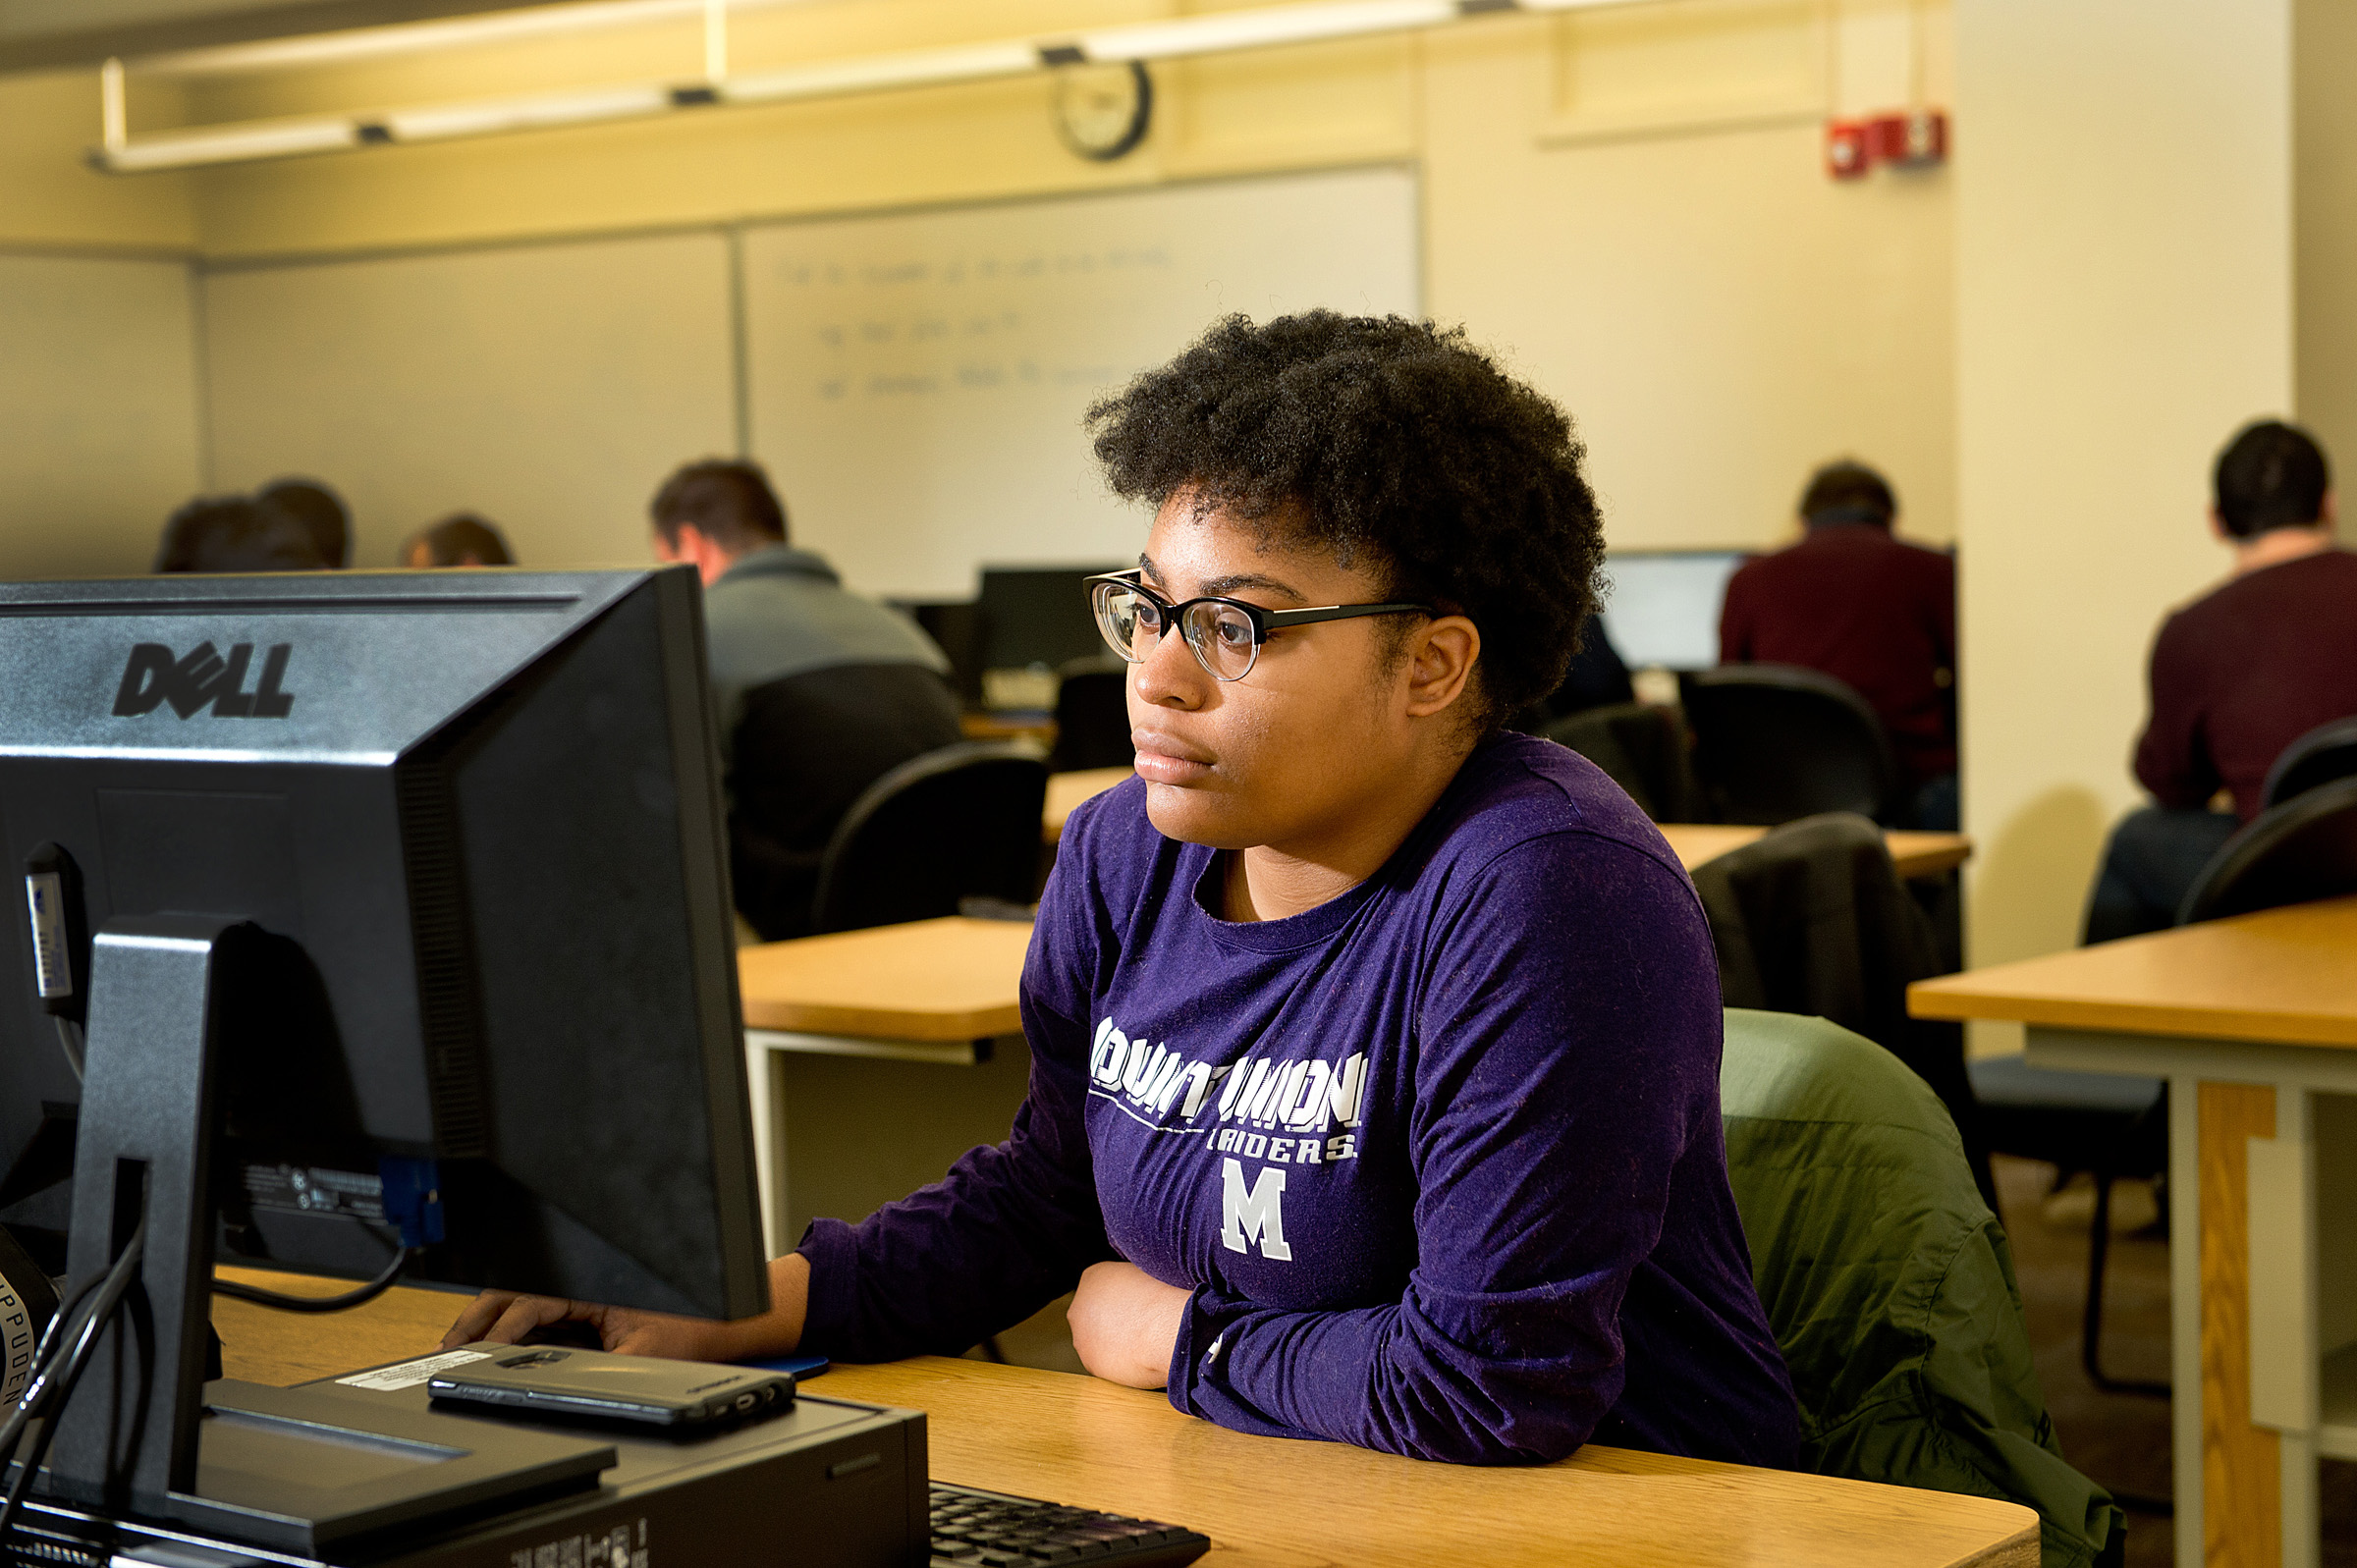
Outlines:
<svg viewBox="0 0 2357 1568"><path fill-rule="evenodd" d="M1082 413L1230 311L1419 314L1409 170L745 231L752 455L853 585L1136 556Z"/></svg>

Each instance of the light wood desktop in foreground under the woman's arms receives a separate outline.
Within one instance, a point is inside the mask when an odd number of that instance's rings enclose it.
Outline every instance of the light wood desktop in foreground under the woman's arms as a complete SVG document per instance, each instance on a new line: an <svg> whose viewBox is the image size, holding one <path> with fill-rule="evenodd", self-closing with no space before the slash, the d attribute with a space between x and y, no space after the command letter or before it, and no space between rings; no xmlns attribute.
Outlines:
<svg viewBox="0 0 2357 1568"><path fill-rule="evenodd" d="M224 1273L288 1287L285 1276ZM391 1290L351 1313L292 1318L219 1299L212 1316L231 1377L285 1384L431 1351L462 1302ZM1226 1431L1160 1394L1070 1372L922 1356L834 1368L808 1394L924 1410L940 1481L1183 1523L1211 1537L1207 1561L1233 1568L2039 1561L2036 1516L2011 1502L1624 1448L1539 1469L1428 1464Z"/></svg>

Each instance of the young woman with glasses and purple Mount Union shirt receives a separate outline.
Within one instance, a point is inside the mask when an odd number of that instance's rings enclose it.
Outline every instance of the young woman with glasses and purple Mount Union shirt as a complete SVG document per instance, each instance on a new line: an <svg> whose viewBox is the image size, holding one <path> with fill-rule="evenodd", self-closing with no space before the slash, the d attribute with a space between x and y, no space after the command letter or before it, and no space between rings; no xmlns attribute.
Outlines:
<svg viewBox="0 0 2357 1568"><path fill-rule="evenodd" d="M1157 507L1094 585L1138 776L1065 825L1014 1134L813 1224L764 1318L486 1294L450 1342L884 1361L1077 1287L1091 1372L1242 1431L1789 1464L1702 910L1598 769L1499 729L1596 606L1563 413L1457 332L1310 314L1091 422Z"/></svg>

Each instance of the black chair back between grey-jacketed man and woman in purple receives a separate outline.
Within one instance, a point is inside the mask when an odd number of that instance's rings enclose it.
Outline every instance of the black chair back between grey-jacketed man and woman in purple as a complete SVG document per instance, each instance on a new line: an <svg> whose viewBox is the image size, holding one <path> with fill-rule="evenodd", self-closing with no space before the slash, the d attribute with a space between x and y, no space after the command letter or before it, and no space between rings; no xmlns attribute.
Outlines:
<svg viewBox="0 0 2357 1568"><path fill-rule="evenodd" d="M964 740L903 762L827 839L811 931L955 915L962 898L1030 903L1047 764L1037 747Z"/></svg>

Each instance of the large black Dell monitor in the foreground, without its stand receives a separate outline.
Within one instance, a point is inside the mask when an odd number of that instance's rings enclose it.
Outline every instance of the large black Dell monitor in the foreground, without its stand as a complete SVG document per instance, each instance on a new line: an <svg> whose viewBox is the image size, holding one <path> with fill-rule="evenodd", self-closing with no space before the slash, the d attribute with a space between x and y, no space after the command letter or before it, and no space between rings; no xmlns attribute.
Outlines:
<svg viewBox="0 0 2357 1568"><path fill-rule="evenodd" d="M266 934L224 1257L368 1278L408 1210L412 1280L766 1306L693 571L7 585L0 667L9 865L64 846L85 931ZM78 1085L16 908L0 1221L40 1240Z"/></svg>

